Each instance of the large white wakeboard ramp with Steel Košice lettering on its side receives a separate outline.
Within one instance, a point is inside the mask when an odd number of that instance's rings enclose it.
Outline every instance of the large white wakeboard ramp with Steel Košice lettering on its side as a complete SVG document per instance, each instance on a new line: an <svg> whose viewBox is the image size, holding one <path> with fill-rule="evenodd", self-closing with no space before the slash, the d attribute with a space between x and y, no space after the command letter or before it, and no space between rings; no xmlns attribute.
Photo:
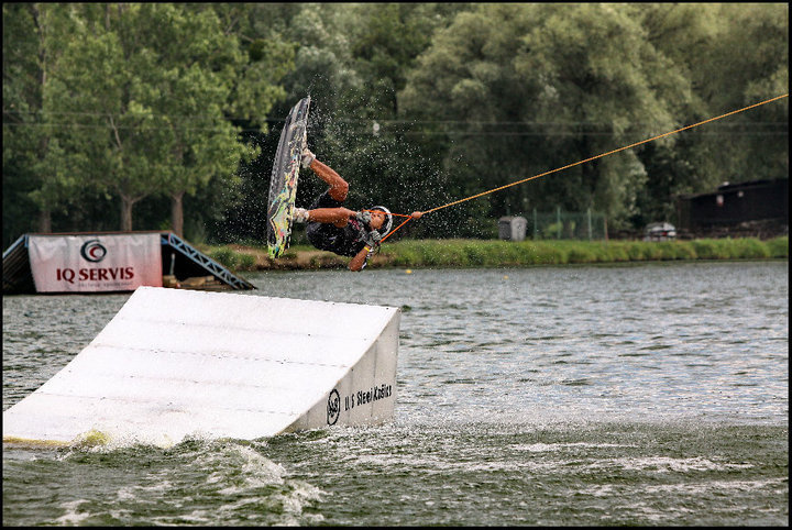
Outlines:
<svg viewBox="0 0 792 530"><path fill-rule="evenodd" d="M3 442L173 444L393 417L397 308L140 287L3 412Z"/></svg>

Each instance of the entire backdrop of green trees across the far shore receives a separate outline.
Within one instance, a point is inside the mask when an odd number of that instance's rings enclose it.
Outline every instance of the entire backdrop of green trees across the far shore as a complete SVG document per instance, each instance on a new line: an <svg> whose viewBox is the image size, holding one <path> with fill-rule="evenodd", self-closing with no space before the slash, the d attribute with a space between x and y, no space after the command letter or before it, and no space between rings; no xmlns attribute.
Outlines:
<svg viewBox="0 0 792 530"><path fill-rule="evenodd" d="M207 241L261 241L280 123L306 95L309 146L350 183L350 208L427 210L785 93L788 49L782 3L4 3L3 239L174 224L184 203ZM557 206L603 212L612 229L674 222L675 196L788 176L788 112L784 99L408 230L490 239L492 219ZM298 202L320 191L307 175ZM470 245L430 260L488 260ZM498 250L730 252L546 251Z"/></svg>

